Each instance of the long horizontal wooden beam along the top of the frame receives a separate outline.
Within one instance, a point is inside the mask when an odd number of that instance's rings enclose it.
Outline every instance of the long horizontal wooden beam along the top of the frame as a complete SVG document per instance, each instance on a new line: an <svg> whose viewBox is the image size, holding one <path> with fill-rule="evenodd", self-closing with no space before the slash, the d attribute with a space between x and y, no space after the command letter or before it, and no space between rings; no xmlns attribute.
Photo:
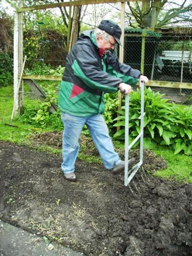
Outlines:
<svg viewBox="0 0 192 256"><path fill-rule="evenodd" d="M107 3L120 3L120 2L127 2L122 0L77 0L77 1L70 1L65 3L54 3L54 4L39 4L39 5L31 5L28 7L19 7L17 12L27 12L33 10L44 10L44 9L51 9L63 6L78 6L78 5L88 5L88 4L107 4ZM142 2L142 0L129 0L128 2Z"/></svg>

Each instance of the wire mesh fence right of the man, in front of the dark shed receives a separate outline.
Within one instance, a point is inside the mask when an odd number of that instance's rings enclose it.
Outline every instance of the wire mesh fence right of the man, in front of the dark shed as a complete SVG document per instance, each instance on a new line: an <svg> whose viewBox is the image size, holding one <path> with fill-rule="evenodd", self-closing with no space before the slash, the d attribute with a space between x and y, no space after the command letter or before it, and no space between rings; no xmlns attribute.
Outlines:
<svg viewBox="0 0 192 256"><path fill-rule="evenodd" d="M129 30L125 34L124 62L135 69L142 70L143 32ZM162 37L150 33L145 35L143 73L153 81L192 83L192 43L188 37L178 35ZM190 89L177 87L151 87L154 91L163 92L166 97L177 96L176 101L185 101L191 94ZM192 87L191 87L192 89Z"/></svg>

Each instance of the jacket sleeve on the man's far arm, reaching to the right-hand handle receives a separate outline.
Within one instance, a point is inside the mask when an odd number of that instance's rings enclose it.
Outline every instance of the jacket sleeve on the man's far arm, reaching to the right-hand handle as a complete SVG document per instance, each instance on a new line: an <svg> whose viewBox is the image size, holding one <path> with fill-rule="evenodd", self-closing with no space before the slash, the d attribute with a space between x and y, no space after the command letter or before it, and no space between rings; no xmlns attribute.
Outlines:
<svg viewBox="0 0 192 256"><path fill-rule="evenodd" d="M117 57L111 52L108 52L107 55L107 72L111 76L121 78L124 83L130 85L137 84L141 75L139 70L119 62Z"/></svg>

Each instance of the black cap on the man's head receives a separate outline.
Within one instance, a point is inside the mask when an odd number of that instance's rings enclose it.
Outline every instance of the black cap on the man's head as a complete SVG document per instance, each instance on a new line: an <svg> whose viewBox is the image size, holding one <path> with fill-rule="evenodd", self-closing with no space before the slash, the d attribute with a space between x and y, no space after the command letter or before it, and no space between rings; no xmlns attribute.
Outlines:
<svg viewBox="0 0 192 256"><path fill-rule="evenodd" d="M117 43L121 45L120 37L122 34L122 30L115 22L113 22L112 20L102 20L98 28L106 31L109 35L113 36Z"/></svg>

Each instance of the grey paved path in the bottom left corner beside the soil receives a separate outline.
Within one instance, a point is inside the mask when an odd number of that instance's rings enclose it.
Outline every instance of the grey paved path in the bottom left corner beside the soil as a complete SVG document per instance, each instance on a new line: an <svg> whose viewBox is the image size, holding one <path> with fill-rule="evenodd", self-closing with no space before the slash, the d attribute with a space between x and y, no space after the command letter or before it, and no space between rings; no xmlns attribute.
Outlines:
<svg viewBox="0 0 192 256"><path fill-rule="evenodd" d="M0 220L0 256L83 256Z"/></svg>

